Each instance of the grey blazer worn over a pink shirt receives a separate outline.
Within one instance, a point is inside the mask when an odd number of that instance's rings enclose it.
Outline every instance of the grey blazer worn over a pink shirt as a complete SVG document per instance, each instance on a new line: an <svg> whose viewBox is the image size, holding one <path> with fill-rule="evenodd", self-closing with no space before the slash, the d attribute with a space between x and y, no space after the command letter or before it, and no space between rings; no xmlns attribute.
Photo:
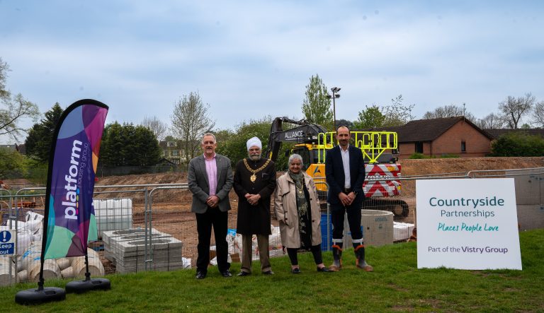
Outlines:
<svg viewBox="0 0 544 313"><path fill-rule="evenodd" d="M215 163L217 164L217 188L215 195L219 197L219 209L222 212L230 210L229 191L232 189L232 168L230 160L225 155L215 153ZM187 182L189 190L193 193L193 204L191 212L205 213L208 209L206 199L210 196L210 183L206 173L206 163L204 155L198 155L189 162L187 173Z"/></svg>

